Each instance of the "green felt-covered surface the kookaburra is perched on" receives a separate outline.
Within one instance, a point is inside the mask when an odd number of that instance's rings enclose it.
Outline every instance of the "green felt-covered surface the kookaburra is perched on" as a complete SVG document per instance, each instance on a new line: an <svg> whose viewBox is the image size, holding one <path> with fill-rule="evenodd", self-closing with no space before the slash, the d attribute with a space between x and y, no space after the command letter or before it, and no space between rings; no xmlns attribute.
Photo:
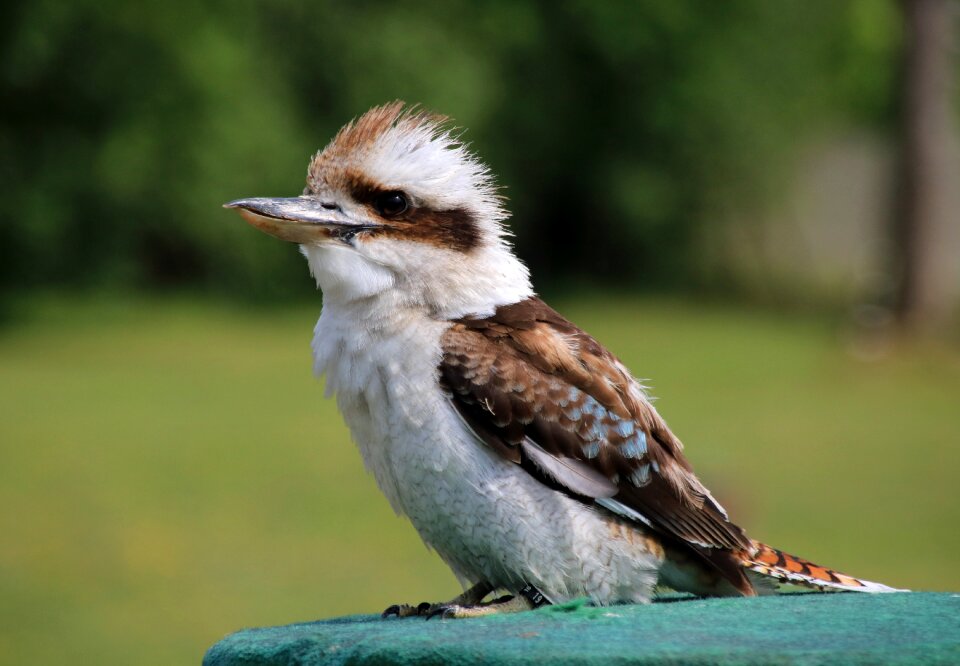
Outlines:
<svg viewBox="0 0 960 666"><path fill-rule="evenodd" d="M960 594L571 603L442 621L357 615L245 629L203 663L960 664Z"/></svg>

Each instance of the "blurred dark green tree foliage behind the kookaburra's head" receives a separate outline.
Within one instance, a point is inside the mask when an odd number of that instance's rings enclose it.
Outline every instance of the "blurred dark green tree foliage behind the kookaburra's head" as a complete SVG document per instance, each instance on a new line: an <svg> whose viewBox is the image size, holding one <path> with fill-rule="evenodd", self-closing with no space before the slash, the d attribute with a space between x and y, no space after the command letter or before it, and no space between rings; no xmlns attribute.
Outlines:
<svg viewBox="0 0 960 666"><path fill-rule="evenodd" d="M469 128L541 281L702 281L701 232L781 196L804 137L891 122L899 39L893 0L24 0L0 25L0 289L262 297L310 285L219 205L297 193L396 98Z"/></svg>

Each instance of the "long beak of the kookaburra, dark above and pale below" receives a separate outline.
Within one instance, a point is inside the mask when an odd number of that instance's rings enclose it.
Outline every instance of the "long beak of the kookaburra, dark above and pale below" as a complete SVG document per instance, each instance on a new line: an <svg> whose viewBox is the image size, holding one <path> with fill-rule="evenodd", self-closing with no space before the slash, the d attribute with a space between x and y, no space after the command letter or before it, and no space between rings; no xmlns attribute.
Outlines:
<svg viewBox="0 0 960 666"><path fill-rule="evenodd" d="M351 220L339 206L317 197L237 199L223 207L237 208L256 228L293 243L341 238L374 227Z"/></svg>

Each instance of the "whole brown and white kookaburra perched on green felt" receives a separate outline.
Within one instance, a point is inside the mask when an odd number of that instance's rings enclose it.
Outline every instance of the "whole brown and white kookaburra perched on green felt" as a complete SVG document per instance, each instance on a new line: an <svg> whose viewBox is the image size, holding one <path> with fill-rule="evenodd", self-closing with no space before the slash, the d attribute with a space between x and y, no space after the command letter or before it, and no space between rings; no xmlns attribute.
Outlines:
<svg viewBox="0 0 960 666"><path fill-rule="evenodd" d="M299 196L224 204L299 244L311 343L364 464L463 592L383 615L467 618L662 588L898 591L751 539L694 474L647 389L541 300L505 199L445 116L348 122Z"/></svg>

